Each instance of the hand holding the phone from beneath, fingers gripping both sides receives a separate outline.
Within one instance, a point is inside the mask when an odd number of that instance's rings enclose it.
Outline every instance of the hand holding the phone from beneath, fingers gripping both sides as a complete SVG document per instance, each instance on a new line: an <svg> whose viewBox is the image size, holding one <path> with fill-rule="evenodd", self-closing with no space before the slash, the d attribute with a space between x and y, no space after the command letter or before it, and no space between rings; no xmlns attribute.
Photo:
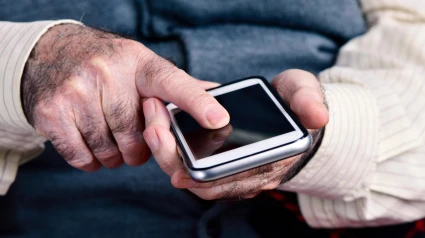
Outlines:
<svg viewBox="0 0 425 238"><path fill-rule="evenodd" d="M328 111L320 84L312 74L288 70L276 76L272 85L304 126L320 129L327 124ZM250 198L263 190L275 189L304 159L303 155L297 155L213 182L199 183L190 178L179 159L164 105L150 98L143 103L143 112L146 118L144 138L161 169L171 177L173 186L187 188L206 200Z"/></svg>

